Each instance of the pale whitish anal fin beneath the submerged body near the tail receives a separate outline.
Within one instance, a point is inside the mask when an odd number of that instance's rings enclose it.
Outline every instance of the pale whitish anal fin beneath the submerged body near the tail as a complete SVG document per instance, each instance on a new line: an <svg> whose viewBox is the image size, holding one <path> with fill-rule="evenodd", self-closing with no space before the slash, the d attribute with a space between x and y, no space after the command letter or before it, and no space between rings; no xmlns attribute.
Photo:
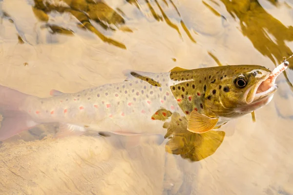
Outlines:
<svg viewBox="0 0 293 195"><path fill-rule="evenodd" d="M84 127L73 125L73 124L61 123L59 126L59 131L55 137L63 138L63 137L70 137L70 136L81 136L84 133L85 133Z"/></svg>

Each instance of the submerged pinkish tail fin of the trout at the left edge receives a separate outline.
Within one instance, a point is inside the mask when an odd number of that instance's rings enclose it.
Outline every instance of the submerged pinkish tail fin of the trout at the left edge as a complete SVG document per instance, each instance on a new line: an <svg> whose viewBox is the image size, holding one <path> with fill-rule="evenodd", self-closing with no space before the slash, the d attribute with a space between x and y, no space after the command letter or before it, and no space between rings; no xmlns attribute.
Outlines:
<svg viewBox="0 0 293 195"><path fill-rule="evenodd" d="M20 110L26 99L31 97L0 85L0 141L38 125L26 112Z"/></svg>

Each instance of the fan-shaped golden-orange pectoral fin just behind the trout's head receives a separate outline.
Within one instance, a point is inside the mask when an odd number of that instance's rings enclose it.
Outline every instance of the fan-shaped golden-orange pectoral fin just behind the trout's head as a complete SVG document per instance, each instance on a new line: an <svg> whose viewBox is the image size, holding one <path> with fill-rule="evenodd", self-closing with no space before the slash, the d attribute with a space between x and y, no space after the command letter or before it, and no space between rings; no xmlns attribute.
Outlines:
<svg viewBox="0 0 293 195"><path fill-rule="evenodd" d="M216 126L218 120L218 118L210 118L199 114L197 111L192 111L188 120L187 130L197 134L206 133Z"/></svg>

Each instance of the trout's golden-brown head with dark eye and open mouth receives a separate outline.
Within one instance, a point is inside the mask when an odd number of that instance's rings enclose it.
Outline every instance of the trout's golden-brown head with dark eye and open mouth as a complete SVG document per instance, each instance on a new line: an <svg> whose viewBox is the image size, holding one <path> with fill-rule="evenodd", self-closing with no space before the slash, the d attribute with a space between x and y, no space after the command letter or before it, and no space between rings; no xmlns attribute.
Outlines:
<svg viewBox="0 0 293 195"><path fill-rule="evenodd" d="M266 105L277 86L271 71L259 65L225 67L215 82L207 85L205 107L215 116L239 117Z"/></svg>

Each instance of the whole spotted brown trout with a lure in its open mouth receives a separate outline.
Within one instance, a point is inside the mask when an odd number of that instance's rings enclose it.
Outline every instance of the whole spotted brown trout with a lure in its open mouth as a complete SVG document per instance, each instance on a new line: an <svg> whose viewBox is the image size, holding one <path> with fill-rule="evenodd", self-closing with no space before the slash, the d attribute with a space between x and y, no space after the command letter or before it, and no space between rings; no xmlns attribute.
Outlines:
<svg viewBox="0 0 293 195"><path fill-rule="evenodd" d="M188 131L204 133L268 104L277 90L271 71L259 65L125 74L121 83L72 94L52 90L50 98L0 86L0 140L53 122L65 134L164 134L172 112L187 118Z"/></svg>

